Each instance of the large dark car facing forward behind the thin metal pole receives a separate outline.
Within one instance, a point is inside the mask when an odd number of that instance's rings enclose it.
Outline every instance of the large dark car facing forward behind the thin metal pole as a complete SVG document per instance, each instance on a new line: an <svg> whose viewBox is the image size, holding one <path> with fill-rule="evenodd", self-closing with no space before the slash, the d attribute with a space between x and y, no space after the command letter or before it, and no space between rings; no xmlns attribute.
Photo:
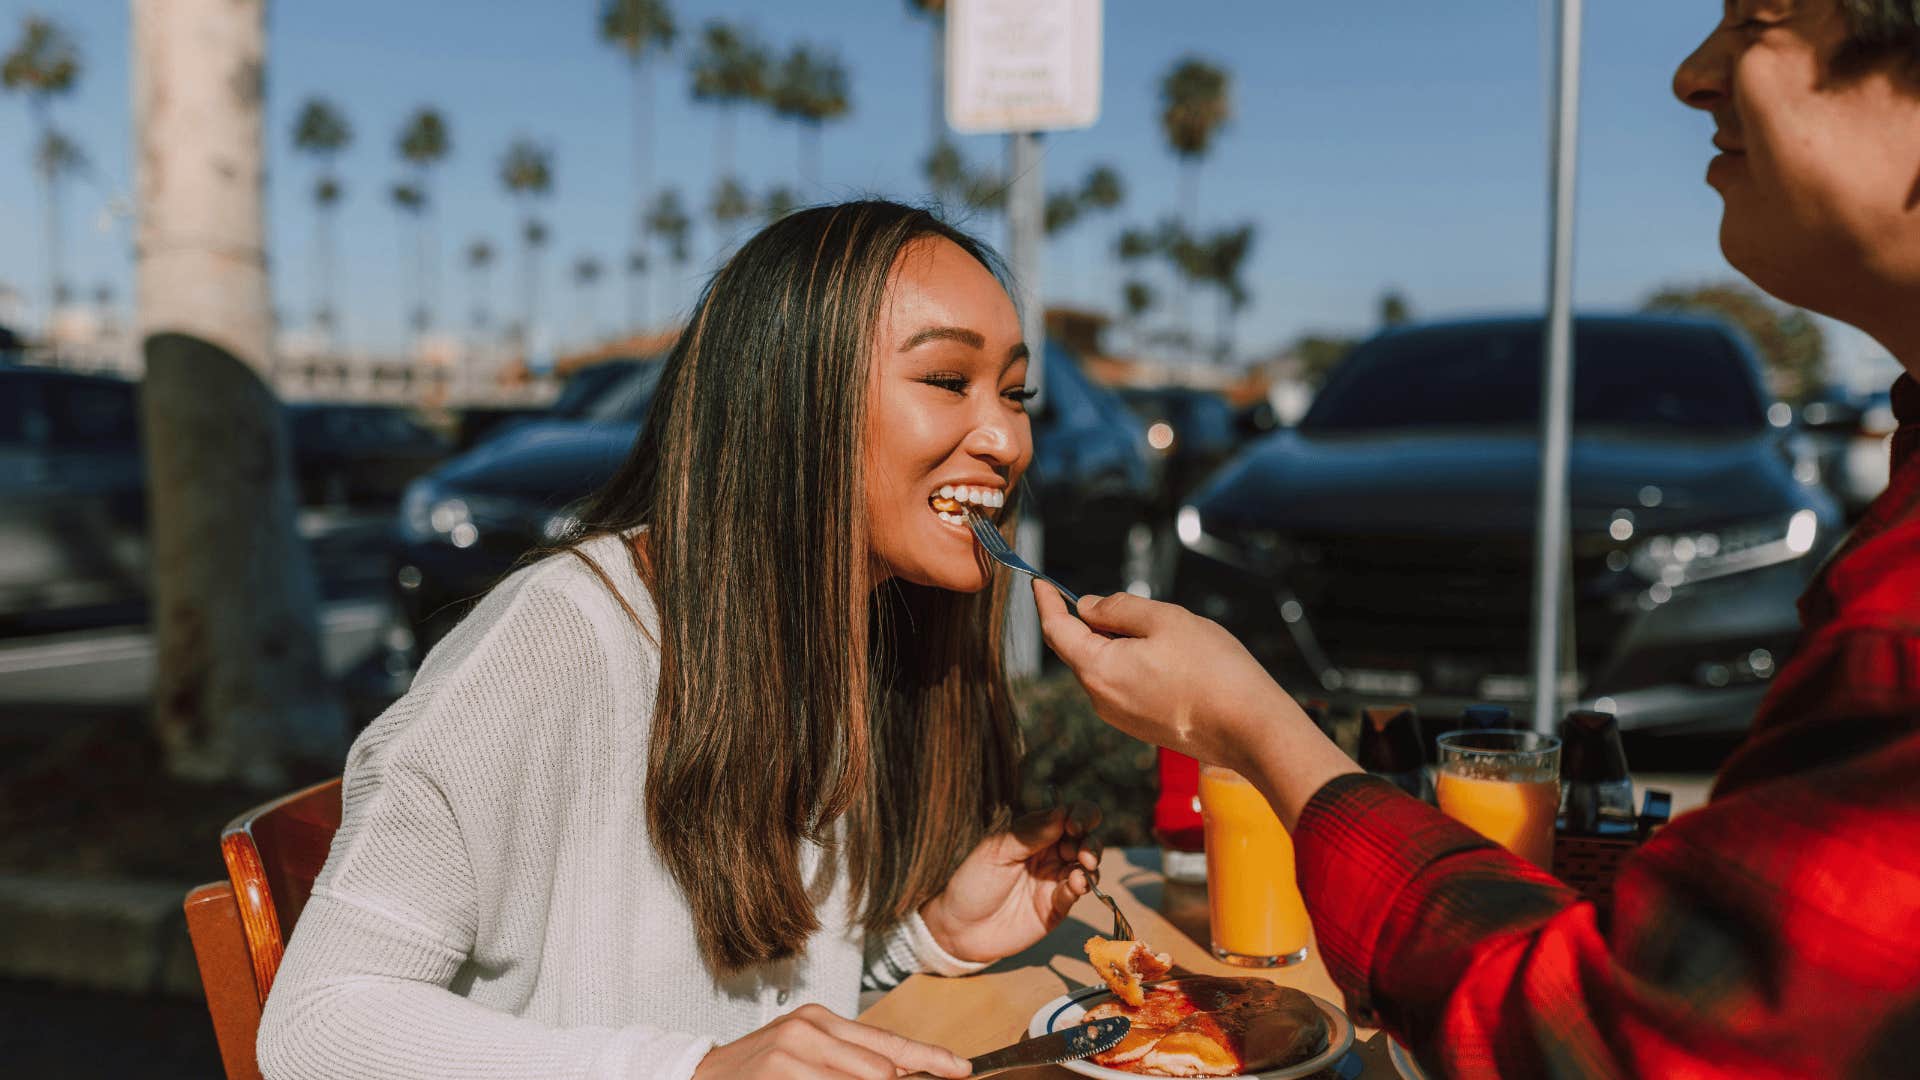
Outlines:
<svg viewBox="0 0 1920 1080"><path fill-rule="evenodd" d="M1336 707L1530 701L1540 342L1482 319L1363 344L1181 507L1177 598ZM1839 507L1728 327L1582 317L1574 356L1563 696L1741 728Z"/></svg>

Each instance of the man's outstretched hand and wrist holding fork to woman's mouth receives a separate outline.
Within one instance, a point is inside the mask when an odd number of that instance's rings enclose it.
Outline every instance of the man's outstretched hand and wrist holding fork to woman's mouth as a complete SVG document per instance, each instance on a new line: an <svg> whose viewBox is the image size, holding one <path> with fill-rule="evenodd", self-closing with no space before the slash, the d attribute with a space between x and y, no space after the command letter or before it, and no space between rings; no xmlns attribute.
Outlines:
<svg viewBox="0 0 1920 1080"><path fill-rule="evenodd" d="M1238 771L1286 828L1321 784L1359 771L1219 623L1127 594L1081 598L1083 623L1041 580L1033 601L1102 721Z"/></svg>

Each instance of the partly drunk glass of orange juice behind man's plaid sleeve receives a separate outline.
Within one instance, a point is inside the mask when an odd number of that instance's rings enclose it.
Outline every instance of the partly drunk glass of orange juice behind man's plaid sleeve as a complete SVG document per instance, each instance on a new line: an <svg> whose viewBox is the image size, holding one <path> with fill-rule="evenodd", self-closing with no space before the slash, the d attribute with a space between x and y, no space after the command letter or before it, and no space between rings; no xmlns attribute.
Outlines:
<svg viewBox="0 0 1920 1080"><path fill-rule="evenodd" d="M1440 736L1440 813L1553 869L1553 817L1559 813L1559 738L1486 728Z"/></svg>

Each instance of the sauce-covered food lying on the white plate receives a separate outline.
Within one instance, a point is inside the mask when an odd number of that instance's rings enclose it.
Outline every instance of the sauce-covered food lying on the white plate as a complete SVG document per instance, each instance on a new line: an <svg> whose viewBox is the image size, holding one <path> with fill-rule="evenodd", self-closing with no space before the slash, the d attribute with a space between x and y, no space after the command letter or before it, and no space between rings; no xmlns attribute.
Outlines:
<svg viewBox="0 0 1920 1080"><path fill-rule="evenodd" d="M1127 1017L1133 1026L1119 1045L1092 1055L1094 1065L1146 1076L1284 1068L1321 1053L1331 1038L1311 997L1265 978L1175 978L1148 988L1139 1005L1102 1001L1081 1022L1108 1017Z"/></svg>

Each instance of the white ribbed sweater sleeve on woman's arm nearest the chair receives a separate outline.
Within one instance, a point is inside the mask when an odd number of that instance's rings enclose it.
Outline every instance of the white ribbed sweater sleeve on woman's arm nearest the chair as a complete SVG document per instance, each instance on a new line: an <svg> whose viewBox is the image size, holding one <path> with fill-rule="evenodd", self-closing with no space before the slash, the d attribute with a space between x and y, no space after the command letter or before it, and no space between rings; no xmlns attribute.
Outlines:
<svg viewBox="0 0 1920 1080"><path fill-rule="evenodd" d="M255 1043L269 1080L687 1080L712 1040L649 1024L559 1028L455 990L482 919L478 842L447 755L480 740L420 686L348 759L342 826L300 915ZM409 715L411 713L411 715ZM470 778L468 778L470 780ZM474 796L478 798L478 796ZM465 974L463 974L465 972Z"/></svg>

